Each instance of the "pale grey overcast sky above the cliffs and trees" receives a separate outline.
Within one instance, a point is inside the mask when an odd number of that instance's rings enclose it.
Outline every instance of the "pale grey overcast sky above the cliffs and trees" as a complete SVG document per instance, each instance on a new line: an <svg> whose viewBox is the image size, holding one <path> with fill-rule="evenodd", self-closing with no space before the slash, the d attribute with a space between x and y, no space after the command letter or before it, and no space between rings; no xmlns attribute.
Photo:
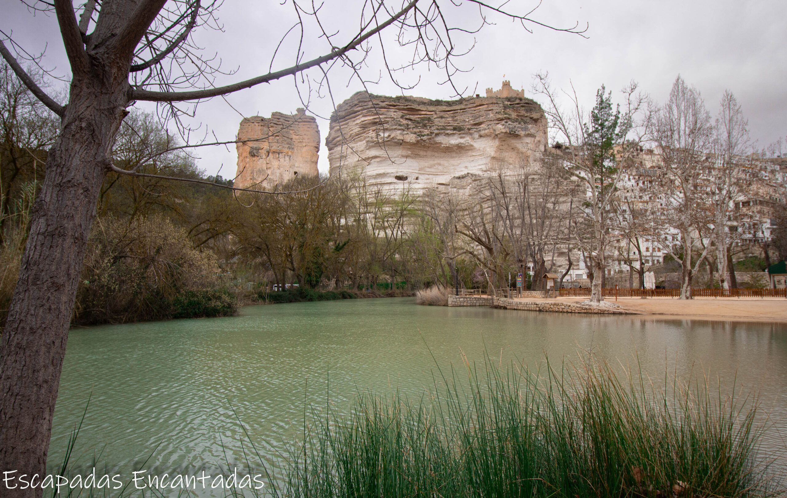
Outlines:
<svg viewBox="0 0 787 498"><path fill-rule="evenodd" d="M54 16L28 13L17 0L2 0L0 28L13 31L13 38L31 53L46 48L44 65L68 74L68 64L57 31ZM424 0L426 2L426 0ZM323 23L328 31L338 31L335 42L349 38L359 22L361 2L326 0ZM449 22L471 27L476 24L478 9L465 4L459 8L445 3ZM78 4L75 4L78 5ZM401 4L391 4L400 6ZM534 2L512 0L505 6L512 12L525 13ZM227 84L268 72L276 43L294 20L291 4L279 5L277 0L227 0L218 12L224 31L201 30L195 35L205 53L216 53L225 70L237 69L235 75L222 75L216 84ZM556 27L571 27L578 22L588 24L587 38L544 27L531 26L533 33L519 24L491 16L497 24L486 26L476 35L459 36L461 45L475 47L457 60L461 68L470 70L457 75L465 95L484 94L487 86L497 90L501 80L510 79L512 86L524 88L530 95L532 75L549 71L554 86L573 83L580 98L592 105L597 88L604 84L619 90L630 80L655 101L663 102L672 82L680 74L689 85L702 93L709 111L715 114L724 90L731 90L741 102L748 117L752 140L759 148L787 135L787 1L753 0L544 0L532 14L534 19ZM309 24L310 32L312 24ZM390 60L405 60L406 54L395 49L395 31L383 34L390 46ZM296 38L286 40L273 68L285 68L294 59ZM338 43L337 43L338 44ZM324 39L305 36L305 59L327 52ZM289 64L288 64L289 63ZM394 64L391 64L394 65ZM362 71L367 79L378 79L382 69L379 50L371 53L368 66ZM309 73L317 78L319 73ZM419 85L405 94L448 99L453 97L449 86L438 83L445 79L440 71L419 66L401 75L407 82L420 79ZM56 82L57 83L57 82ZM475 92L471 90L476 88ZM381 94L401 94L387 75L370 90ZM331 74L331 90L335 103L343 101L362 87L357 80L349 81L346 71ZM538 99L537 99L538 100ZM301 100L294 90L292 78L243 90L227 97L199 105L192 126L222 140L232 140L238 130L241 114L269 116L271 112L294 112ZM237 110L234 110L233 107ZM332 110L330 98L312 92L312 114L327 118ZM240 113L240 114L238 114ZM327 120L318 119L323 143L320 148L320 170L327 170L324 137ZM235 174L235 148L200 148L198 165L208 174L225 178Z"/></svg>

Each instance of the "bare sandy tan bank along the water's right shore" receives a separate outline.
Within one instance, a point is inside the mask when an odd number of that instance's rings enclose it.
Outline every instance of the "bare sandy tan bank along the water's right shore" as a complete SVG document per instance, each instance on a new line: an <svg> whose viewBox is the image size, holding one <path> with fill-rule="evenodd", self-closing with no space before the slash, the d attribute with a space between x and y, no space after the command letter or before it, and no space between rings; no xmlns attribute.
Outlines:
<svg viewBox="0 0 787 498"><path fill-rule="evenodd" d="M587 298L523 298L505 299L501 304L508 309L529 309L524 306L538 306L539 310L563 311L560 307L575 308ZM505 302L512 302L505 305ZM619 312L639 317L682 320L716 321L763 321L787 323L787 299L785 298L606 298L606 302L619 306ZM527 303L527 304L526 304ZM549 304L555 309L546 309ZM562 305L562 306L561 306ZM568 306L566 306L568 305ZM569 311L571 312L571 311ZM573 313L582 313L575 310Z"/></svg>

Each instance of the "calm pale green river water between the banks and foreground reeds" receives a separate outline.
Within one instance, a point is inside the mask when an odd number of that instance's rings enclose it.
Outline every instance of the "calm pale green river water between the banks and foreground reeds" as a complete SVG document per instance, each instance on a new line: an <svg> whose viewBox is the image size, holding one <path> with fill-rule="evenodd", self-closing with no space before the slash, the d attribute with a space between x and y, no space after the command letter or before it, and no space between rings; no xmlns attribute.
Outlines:
<svg viewBox="0 0 787 498"><path fill-rule="evenodd" d="M427 349L427 345L429 349ZM431 352L430 352L431 350ZM249 430L264 456L302 430L305 403L338 410L357 390L417 397L435 365L461 366L484 350L531 368L593 350L615 364L710 375L759 392L770 412L766 449L787 444L787 327L641 320L489 308L416 306L412 298L249 306L239 317L75 328L55 410L50 465L92 401L76 445L127 472L216 469L244 461ZM433 356L434 355L434 359ZM436 362L436 363L435 363ZM330 379L330 386L329 386Z"/></svg>

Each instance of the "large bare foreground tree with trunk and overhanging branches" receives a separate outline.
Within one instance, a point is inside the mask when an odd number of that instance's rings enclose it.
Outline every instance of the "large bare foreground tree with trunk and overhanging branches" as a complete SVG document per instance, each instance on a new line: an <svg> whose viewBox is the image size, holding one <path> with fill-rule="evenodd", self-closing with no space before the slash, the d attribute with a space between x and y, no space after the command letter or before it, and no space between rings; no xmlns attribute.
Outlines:
<svg viewBox="0 0 787 498"><path fill-rule="evenodd" d="M313 29L326 44L326 53L306 60L304 47L298 45L294 65L288 68L271 68L267 74L246 81L214 86L213 75L219 68L201 57L192 35L195 27L218 27L220 2L88 0L77 17L70 1L31 0L31 9L56 13L72 79L68 102L62 105L24 71L5 42L0 43L0 54L17 77L61 118L59 136L46 159L46 179L33 209L30 236L2 335L0 467L28 475L46 471L68 324L98 195L109 171L143 175L124 170L111 158L127 108L135 101L160 102L166 104L169 115L177 116L182 111L177 103L226 95L309 68L325 78L335 66L356 72L371 42L379 42L384 49L380 33L390 26L398 29L397 43L412 49L412 61L406 67L436 64L447 80L453 81L458 71L453 60L466 52L454 38L468 30L446 24L438 0L411 0L399 7L393 3L365 2L360 8L360 27L342 40L323 23L320 9L292 0L289 5L298 21L291 31L305 35L309 29L305 19L315 20ZM478 28L487 24L486 15L491 12L523 26L536 22L528 14L507 13L478 0L452 3L449 8L464 9L464 5L480 9ZM577 32L575 28L567 31ZM5 41L12 49L17 46L7 37ZM353 57L359 52L360 60ZM327 85L327 79L316 81L318 86ZM13 493L40 496L41 490L17 489Z"/></svg>

